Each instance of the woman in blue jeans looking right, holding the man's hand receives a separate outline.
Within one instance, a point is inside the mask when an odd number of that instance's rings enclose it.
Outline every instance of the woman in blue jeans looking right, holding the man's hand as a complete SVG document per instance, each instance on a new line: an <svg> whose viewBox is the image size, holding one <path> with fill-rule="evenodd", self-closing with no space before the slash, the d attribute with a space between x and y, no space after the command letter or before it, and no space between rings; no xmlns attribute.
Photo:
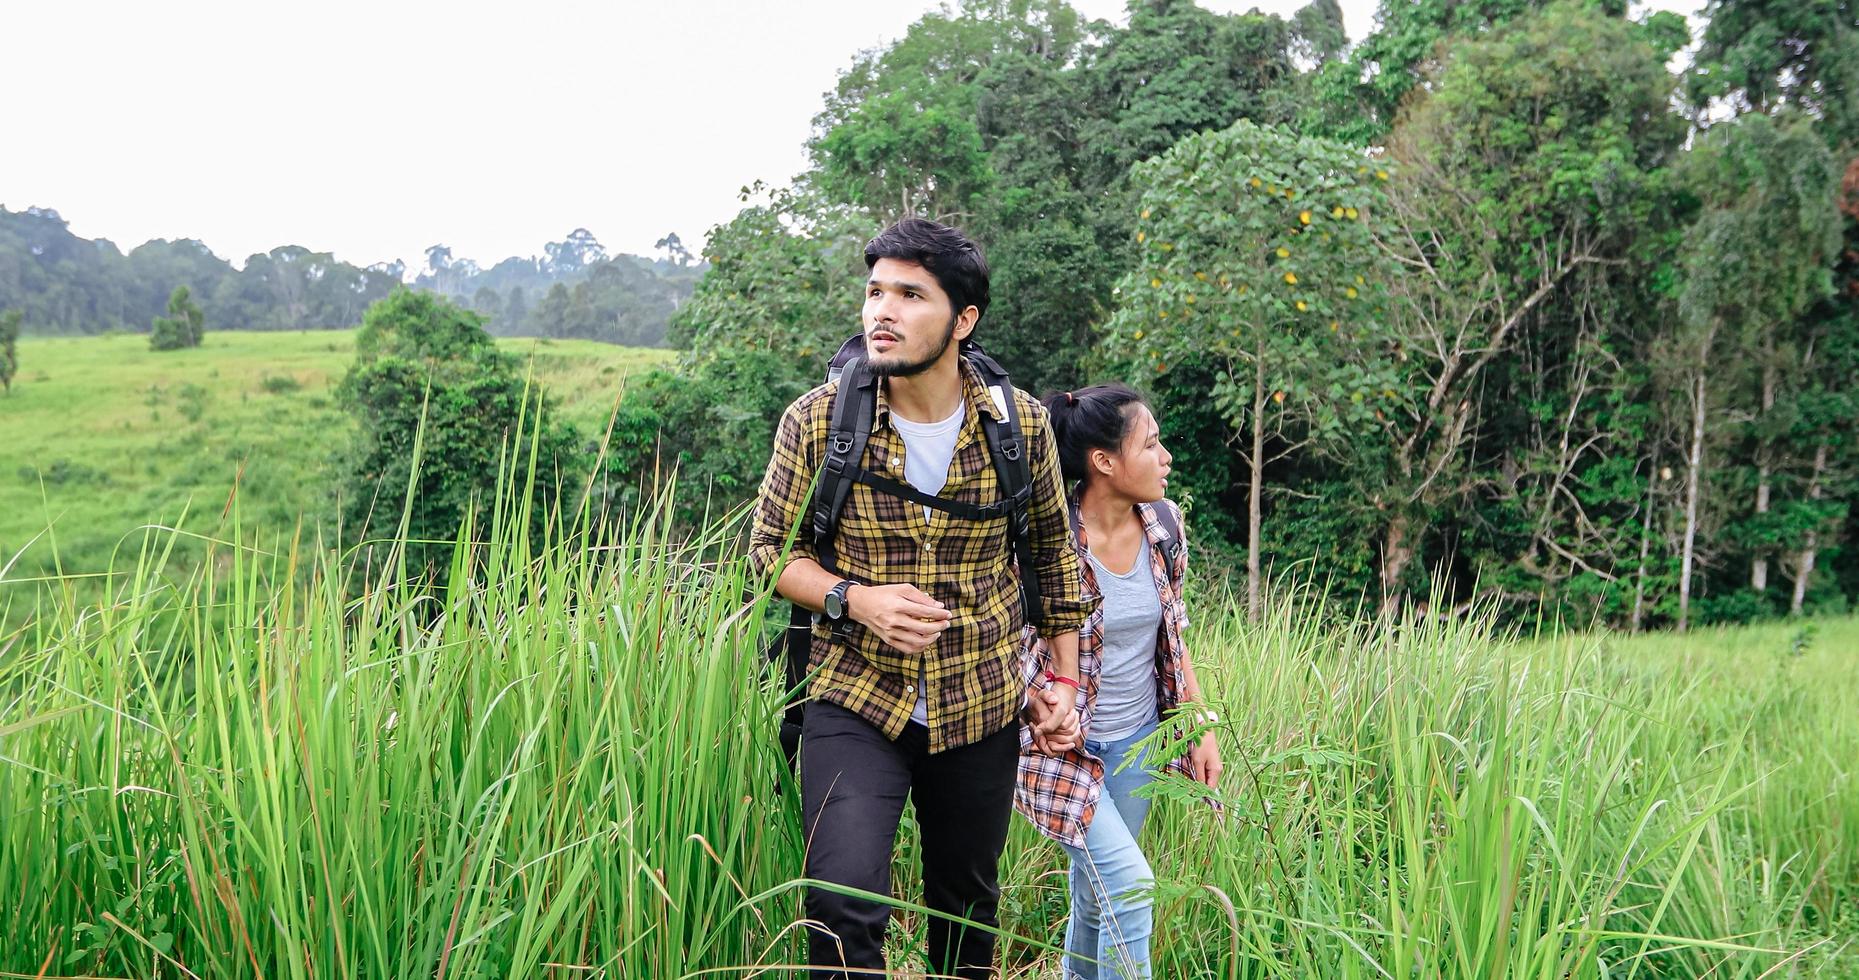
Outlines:
<svg viewBox="0 0 1859 980"><path fill-rule="evenodd" d="M1169 712L1201 701L1180 636L1188 625L1180 508L1166 498L1171 457L1140 394L1114 383L1048 394L1043 404L1069 487L1084 591L1102 603L1078 630L1078 677L1054 673L1047 643L1026 634L1034 681L1078 688L1078 729L1052 736L1022 729L1015 809L1071 857L1065 976L1147 980L1154 876L1138 846L1149 800L1136 790L1158 766L1136 744ZM1214 787L1221 768L1214 735L1167 768Z"/></svg>

